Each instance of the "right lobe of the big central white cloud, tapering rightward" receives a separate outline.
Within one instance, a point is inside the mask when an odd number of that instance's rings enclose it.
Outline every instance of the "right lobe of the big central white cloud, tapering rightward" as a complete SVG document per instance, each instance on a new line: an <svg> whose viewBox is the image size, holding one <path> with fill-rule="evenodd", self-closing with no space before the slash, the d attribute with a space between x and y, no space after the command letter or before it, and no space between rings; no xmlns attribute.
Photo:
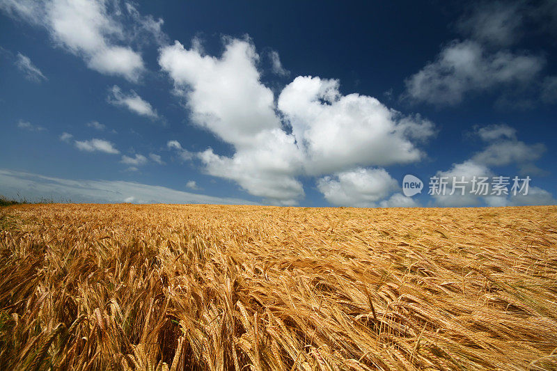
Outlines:
<svg viewBox="0 0 557 371"><path fill-rule="evenodd" d="M338 81L297 77L278 97L306 155L306 172L324 174L359 166L418 161L410 139L432 136L433 125L403 117L366 95L340 95Z"/></svg>

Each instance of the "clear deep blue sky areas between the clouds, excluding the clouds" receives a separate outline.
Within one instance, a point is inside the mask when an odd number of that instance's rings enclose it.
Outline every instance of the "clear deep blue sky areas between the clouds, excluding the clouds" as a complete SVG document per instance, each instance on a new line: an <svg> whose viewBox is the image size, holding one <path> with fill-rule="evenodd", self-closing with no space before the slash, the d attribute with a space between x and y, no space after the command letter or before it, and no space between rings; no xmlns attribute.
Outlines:
<svg viewBox="0 0 557 371"><path fill-rule="evenodd" d="M547 152L535 164L547 175L533 176L532 184L555 197L556 104L542 104L528 89L517 94L517 101L533 100L528 108L501 104L497 89L466 94L455 106L434 106L404 97L409 77L434 61L449 42L464 39L456 24L469 6L460 1L144 1L137 8L143 15L164 19L162 29L170 42L178 40L189 47L197 37L205 52L214 56L223 51L223 36L249 35L261 57L262 81L276 97L295 77L318 76L338 79L343 94L377 97L389 108L431 120L437 136L420 145L427 157L414 164L387 167L399 182L407 173L427 180L437 171L469 159L485 148L471 135L476 125L505 124L517 129L519 141L546 145ZM556 38L540 28L528 24L521 40L510 49L543 55L547 63L541 76L557 75ZM203 194L265 203L235 182L205 175L197 161L180 161L166 148L167 141L178 140L192 152L211 147L219 155L233 154L230 145L190 124L187 109L172 93L171 80L160 70L154 43L140 49L148 72L139 84L89 69L81 58L57 47L45 29L3 13L0 47L0 168L65 179L125 180L181 191L188 191L186 182L195 180ZM288 77L270 72L270 50L278 52L290 71ZM48 80L37 84L24 79L13 63L17 52L29 56ZM108 89L113 85L126 92L135 90L163 119L150 120L109 104ZM21 129L19 120L45 130ZM108 129L97 132L86 127L91 121ZM72 133L76 140L106 139L121 154L80 152L59 140L62 132ZM127 166L119 162L121 155L136 152L155 152L166 165L150 162L140 171L126 171ZM503 175L518 174L515 166L494 169ZM300 205L329 205L317 191L315 178L300 179L306 193ZM418 200L422 205L430 203L426 195Z"/></svg>

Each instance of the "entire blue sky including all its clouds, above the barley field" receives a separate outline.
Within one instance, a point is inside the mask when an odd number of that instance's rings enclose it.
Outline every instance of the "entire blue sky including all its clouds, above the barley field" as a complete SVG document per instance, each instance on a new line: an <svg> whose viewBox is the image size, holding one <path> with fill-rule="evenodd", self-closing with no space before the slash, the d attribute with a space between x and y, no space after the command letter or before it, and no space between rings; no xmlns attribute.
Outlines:
<svg viewBox="0 0 557 371"><path fill-rule="evenodd" d="M0 0L0 194L555 204L556 24L550 0ZM473 193L500 175L527 194Z"/></svg>

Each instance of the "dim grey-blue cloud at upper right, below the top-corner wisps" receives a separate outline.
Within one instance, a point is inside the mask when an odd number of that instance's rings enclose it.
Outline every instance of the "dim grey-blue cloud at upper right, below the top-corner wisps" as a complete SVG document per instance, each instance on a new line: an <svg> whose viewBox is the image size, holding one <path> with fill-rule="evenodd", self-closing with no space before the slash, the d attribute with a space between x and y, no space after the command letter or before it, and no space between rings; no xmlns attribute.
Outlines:
<svg viewBox="0 0 557 371"><path fill-rule="evenodd" d="M452 42L436 60L406 81L407 95L418 102L454 105L467 93L533 84L545 64L542 56L487 52L472 40Z"/></svg>

